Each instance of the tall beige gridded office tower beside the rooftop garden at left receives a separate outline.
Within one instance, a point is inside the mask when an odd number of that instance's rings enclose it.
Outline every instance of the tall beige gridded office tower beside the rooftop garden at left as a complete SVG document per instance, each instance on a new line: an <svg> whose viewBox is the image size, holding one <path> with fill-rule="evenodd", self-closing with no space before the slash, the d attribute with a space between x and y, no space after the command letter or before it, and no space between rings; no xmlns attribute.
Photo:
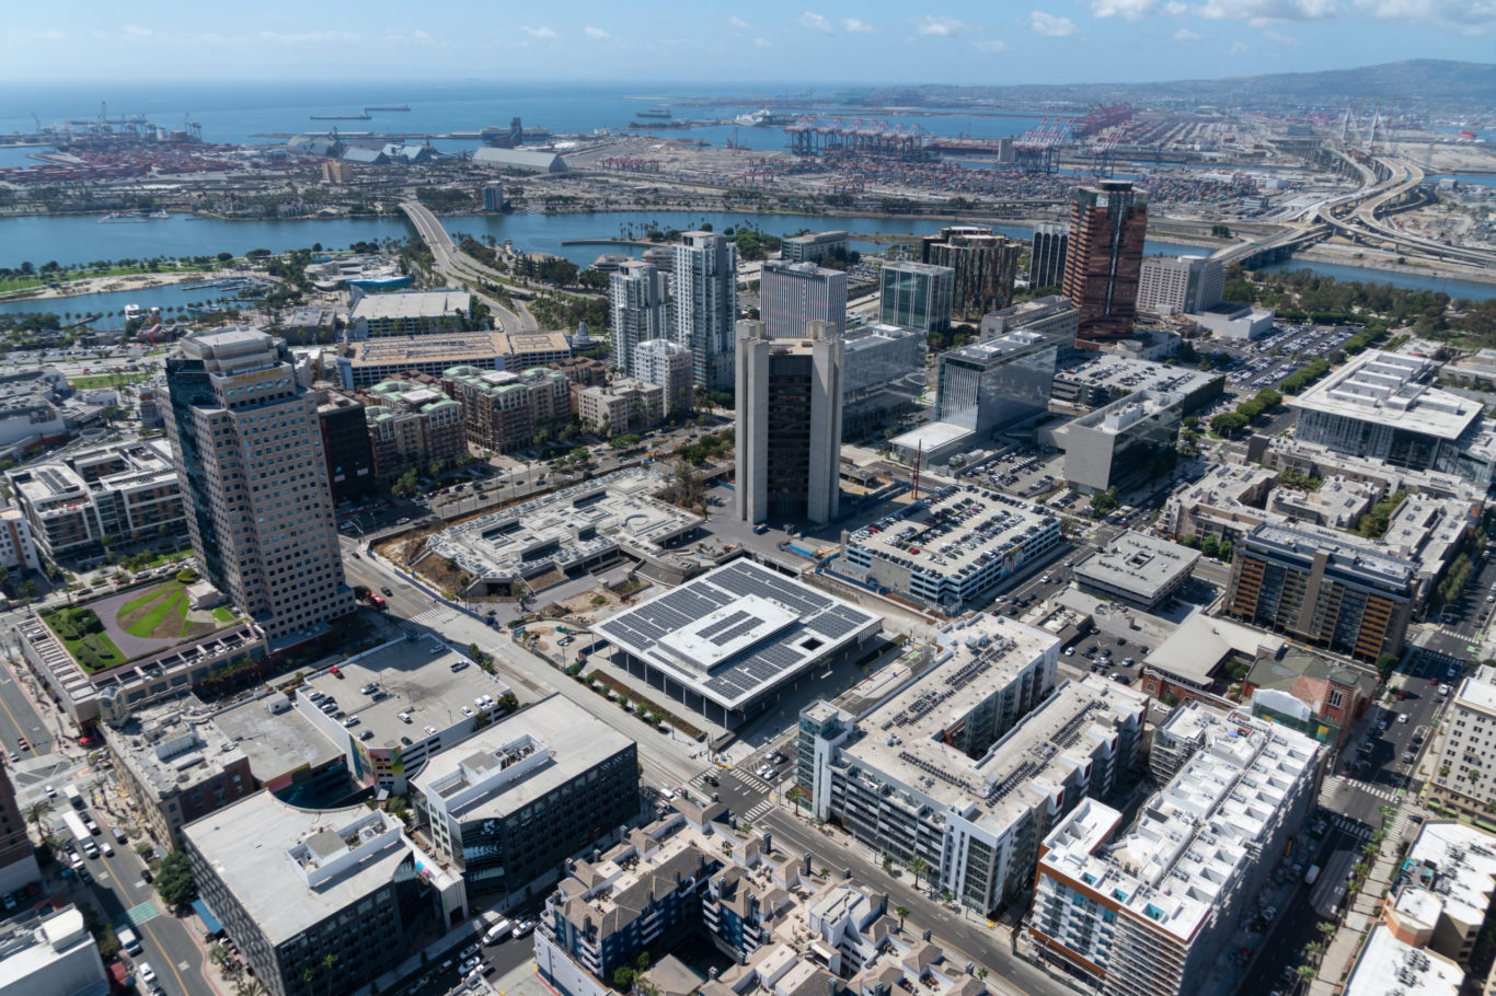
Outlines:
<svg viewBox="0 0 1496 996"><path fill-rule="evenodd" d="M166 359L166 435L203 577L265 630L271 648L353 612L317 402L281 339L194 332Z"/></svg>

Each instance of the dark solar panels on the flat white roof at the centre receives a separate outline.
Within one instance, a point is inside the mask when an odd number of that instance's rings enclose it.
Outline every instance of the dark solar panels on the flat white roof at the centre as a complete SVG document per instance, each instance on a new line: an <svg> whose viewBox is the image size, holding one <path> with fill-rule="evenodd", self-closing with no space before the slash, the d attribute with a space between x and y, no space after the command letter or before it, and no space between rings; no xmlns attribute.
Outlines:
<svg viewBox="0 0 1496 996"><path fill-rule="evenodd" d="M836 642L877 619L869 612L811 591L751 561L736 561L654 601L601 622L595 630L634 657L645 657L669 634L685 630L712 612L729 607L748 595L784 606L794 612L800 621L784 627L772 639L727 658L715 668L715 673L706 677L705 689L708 694L729 701L764 688L782 674L817 658L821 648L809 651L799 646L806 637L817 636L823 642ZM735 610L702 630L699 636L711 640L715 646L726 646L757 625L761 625L761 619L754 613ZM693 664L673 655L670 660L678 665ZM700 665L697 667L700 668Z"/></svg>

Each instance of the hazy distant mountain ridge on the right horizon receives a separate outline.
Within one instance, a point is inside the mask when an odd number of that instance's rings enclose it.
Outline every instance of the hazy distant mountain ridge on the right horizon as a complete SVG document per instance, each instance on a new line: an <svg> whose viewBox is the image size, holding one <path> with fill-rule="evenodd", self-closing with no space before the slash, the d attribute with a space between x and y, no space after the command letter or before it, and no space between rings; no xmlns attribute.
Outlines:
<svg viewBox="0 0 1496 996"><path fill-rule="evenodd" d="M1397 100L1405 106L1496 103L1496 64L1411 58L1360 69L1269 73L1228 79L1179 79L1143 84L1025 84L1016 87L887 87L868 103L951 106L962 103L1074 102L1080 105L1135 100L1152 105L1198 106L1343 105L1357 99Z"/></svg>

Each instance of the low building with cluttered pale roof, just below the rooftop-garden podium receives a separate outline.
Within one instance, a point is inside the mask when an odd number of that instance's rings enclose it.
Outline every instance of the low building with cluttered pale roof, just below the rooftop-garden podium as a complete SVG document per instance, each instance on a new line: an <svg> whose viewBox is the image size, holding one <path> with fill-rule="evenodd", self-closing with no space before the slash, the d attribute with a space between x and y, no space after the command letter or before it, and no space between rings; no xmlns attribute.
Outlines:
<svg viewBox="0 0 1496 996"><path fill-rule="evenodd" d="M248 755L191 694L121 710L99 730L145 830L172 851L184 826L259 788Z"/></svg>

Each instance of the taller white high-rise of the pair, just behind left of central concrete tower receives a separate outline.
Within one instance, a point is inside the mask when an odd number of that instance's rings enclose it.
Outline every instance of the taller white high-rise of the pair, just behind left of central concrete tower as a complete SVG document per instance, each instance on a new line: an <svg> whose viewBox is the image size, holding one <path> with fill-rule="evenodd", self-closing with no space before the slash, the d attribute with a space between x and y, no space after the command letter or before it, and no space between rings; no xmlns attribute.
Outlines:
<svg viewBox="0 0 1496 996"><path fill-rule="evenodd" d="M733 323L738 320L738 247L714 232L687 232L675 247L670 274L675 332L691 350L697 387L733 386Z"/></svg>

